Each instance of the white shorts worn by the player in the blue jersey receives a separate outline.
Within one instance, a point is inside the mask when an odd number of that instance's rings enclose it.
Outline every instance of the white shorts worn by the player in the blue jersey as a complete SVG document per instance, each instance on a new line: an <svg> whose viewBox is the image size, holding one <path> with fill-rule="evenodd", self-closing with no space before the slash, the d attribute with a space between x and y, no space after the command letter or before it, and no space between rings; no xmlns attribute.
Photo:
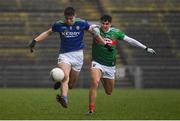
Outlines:
<svg viewBox="0 0 180 121"><path fill-rule="evenodd" d="M83 65L83 50L59 54L58 64L67 63L75 71L81 71Z"/></svg>

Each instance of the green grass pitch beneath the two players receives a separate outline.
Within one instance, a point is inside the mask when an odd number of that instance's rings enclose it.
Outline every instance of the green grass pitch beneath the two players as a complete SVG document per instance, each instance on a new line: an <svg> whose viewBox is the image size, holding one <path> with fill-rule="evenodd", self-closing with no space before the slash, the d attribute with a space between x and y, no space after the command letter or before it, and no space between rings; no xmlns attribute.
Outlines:
<svg viewBox="0 0 180 121"><path fill-rule="evenodd" d="M111 96L98 90L96 113L88 111L88 90L69 92L69 108L55 100L53 89L0 89L0 120L4 119L180 119L180 90L115 89Z"/></svg>

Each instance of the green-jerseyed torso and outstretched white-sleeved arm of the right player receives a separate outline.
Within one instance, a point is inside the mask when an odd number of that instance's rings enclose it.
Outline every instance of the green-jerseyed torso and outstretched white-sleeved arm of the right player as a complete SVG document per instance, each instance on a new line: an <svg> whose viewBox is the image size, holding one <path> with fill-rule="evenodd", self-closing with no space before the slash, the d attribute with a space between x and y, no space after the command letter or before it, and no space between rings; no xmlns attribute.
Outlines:
<svg viewBox="0 0 180 121"><path fill-rule="evenodd" d="M112 47L112 51L108 51L102 44L94 38L93 46L92 46L92 60L106 65L106 66L115 66L116 60L116 45L119 43L118 41L126 41L133 46L140 47L145 49L147 52L155 53L155 51L151 48L147 48L145 45L141 44L137 40L128 37L119 29L109 27L107 31L103 31L101 28L96 28L97 33L99 33L106 43Z"/></svg>

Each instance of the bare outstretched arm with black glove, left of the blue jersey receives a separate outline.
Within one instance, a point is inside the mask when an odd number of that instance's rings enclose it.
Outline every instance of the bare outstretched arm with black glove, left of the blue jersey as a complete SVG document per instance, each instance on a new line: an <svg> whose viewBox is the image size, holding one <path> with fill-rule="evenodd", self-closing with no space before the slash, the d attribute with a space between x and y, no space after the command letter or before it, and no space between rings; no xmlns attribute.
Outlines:
<svg viewBox="0 0 180 121"><path fill-rule="evenodd" d="M48 29L47 31L41 33L39 36L37 36L35 39L31 41L29 44L30 52L34 52L34 47L36 45L36 42L45 40L49 35L53 33L52 29Z"/></svg>

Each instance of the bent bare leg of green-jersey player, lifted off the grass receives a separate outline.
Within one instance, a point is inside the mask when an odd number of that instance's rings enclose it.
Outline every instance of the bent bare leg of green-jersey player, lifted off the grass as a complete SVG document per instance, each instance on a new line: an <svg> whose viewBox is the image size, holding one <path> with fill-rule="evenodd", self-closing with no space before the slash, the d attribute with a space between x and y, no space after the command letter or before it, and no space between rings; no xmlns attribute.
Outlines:
<svg viewBox="0 0 180 121"><path fill-rule="evenodd" d="M110 95L114 89L114 79L103 78L102 83L106 94Z"/></svg>

